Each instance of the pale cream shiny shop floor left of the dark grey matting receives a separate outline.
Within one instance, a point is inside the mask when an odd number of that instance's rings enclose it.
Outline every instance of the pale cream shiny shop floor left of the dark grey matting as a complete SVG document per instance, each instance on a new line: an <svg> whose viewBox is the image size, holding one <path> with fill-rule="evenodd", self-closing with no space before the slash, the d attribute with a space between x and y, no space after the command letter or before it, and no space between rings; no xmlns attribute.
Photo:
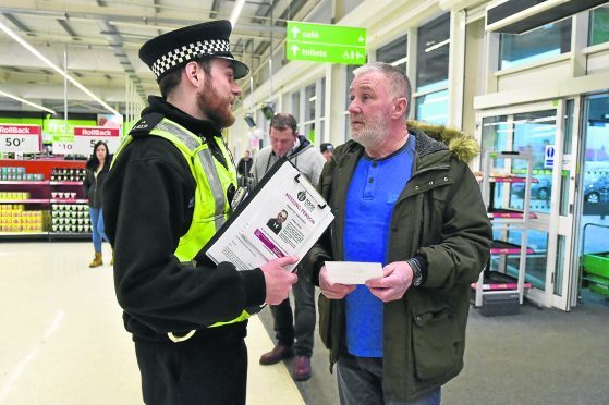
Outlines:
<svg viewBox="0 0 609 405"><path fill-rule="evenodd" d="M103 246L109 260L109 246ZM0 404L142 404L131 335L109 266L87 267L89 243L0 242ZM249 323L248 404L304 404L272 346Z"/></svg>

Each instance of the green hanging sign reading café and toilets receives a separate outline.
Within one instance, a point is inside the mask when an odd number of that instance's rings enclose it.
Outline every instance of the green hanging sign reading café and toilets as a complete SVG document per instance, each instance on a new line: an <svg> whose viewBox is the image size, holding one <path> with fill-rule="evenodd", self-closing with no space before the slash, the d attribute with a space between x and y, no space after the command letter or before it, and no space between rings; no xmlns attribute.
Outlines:
<svg viewBox="0 0 609 405"><path fill-rule="evenodd" d="M285 57L289 60L366 63L365 28L289 21L287 29Z"/></svg>

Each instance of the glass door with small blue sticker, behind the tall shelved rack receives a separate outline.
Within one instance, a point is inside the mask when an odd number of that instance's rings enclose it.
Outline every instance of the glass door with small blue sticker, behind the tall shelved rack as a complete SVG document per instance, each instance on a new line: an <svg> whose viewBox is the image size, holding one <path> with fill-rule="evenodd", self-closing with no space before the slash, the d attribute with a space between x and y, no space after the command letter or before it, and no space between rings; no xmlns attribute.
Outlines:
<svg viewBox="0 0 609 405"><path fill-rule="evenodd" d="M545 107L545 108L544 108ZM498 110L499 114L485 113L482 118L482 152L486 151L517 151L531 156L533 183L529 187L529 210L533 218L528 226L510 226L500 229L494 226L494 238L498 243L519 245L522 233L527 232L527 255L525 260L525 280L528 286L525 292L527 298L543 306L551 306L553 279L548 271L553 261L549 260L555 254L549 248L550 213L552 210L553 150L557 143L557 108L552 103L541 103L535 107ZM490 169L490 176L495 177L525 177L527 162L522 159L495 159ZM500 210L523 210L527 187L524 183L497 183L494 187L494 207ZM523 248L522 246L520 248ZM490 271L517 277L520 254L492 255Z"/></svg>

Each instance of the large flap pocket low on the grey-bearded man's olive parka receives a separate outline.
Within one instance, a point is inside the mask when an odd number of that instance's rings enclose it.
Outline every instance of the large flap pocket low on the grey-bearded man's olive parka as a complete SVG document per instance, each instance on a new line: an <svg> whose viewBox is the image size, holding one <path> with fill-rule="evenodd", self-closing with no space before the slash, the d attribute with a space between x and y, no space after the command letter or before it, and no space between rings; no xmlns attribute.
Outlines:
<svg viewBox="0 0 609 405"><path fill-rule="evenodd" d="M413 314L412 324L414 363L419 379L442 376L458 366L463 343L449 307Z"/></svg>

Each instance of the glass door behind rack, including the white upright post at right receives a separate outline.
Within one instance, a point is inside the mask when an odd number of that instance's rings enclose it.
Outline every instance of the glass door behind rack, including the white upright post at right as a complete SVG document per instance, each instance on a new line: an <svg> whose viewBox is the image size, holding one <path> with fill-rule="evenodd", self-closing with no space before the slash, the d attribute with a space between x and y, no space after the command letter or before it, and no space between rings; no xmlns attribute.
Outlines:
<svg viewBox="0 0 609 405"><path fill-rule="evenodd" d="M529 189L529 210L525 262L527 299L545 307L569 310L574 274L571 260L575 208L578 100L557 100L532 106L503 108L478 113L483 154L489 150L527 152L532 157L534 183ZM494 173L522 177L526 162L497 160ZM522 210L526 187L512 183L495 187L495 205ZM495 230L494 238L517 244L524 230ZM515 275L516 255L492 256L491 271ZM576 277L576 274L575 274Z"/></svg>

